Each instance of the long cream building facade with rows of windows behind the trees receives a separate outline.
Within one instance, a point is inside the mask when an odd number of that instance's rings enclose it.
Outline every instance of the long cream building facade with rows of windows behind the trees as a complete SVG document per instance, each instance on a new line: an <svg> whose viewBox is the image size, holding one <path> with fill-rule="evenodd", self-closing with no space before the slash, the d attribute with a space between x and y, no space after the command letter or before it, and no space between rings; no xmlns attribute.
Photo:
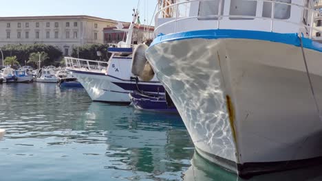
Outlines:
<svg viewBox="0 0 322 181"><path fill-rule="evenodd" d="M104 27L116 21L93 16L25 16L0 18L0 47L8 44L56 45L64 55L74 46L104 43Z"/></svg>

